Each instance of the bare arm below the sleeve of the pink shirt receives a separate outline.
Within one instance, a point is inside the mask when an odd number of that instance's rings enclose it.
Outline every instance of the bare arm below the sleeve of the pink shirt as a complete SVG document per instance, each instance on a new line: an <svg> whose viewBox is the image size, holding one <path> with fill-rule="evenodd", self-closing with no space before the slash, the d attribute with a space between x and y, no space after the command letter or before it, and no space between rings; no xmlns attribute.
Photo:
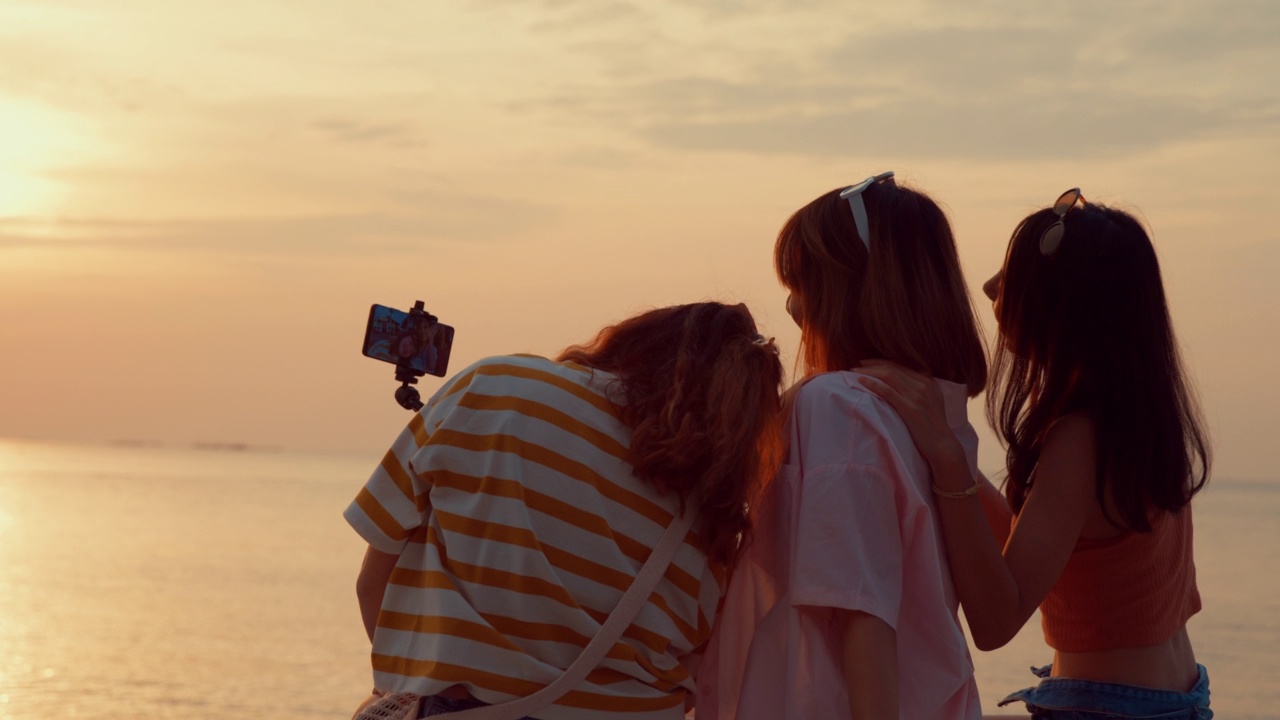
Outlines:
<svg viewBox="0 0 1280 720"><path fill-rule="evenodd" d="M854 610L838 612L849 716L852 720L896 719L897 633L874 615Z"/></svg>

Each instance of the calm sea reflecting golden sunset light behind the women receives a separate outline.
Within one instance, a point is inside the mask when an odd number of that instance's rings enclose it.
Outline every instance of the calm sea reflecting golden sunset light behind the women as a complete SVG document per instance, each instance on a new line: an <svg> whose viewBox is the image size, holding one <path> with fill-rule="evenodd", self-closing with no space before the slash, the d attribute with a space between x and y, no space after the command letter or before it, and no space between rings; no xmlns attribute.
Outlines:
<svg viewBox="0 0 1280 720"><path fill-rule="evenodd" d="M0 442L0 719L349 717L369 689L340 518L365 457ZM1276 717L1280 483L1196 510L1192 639L1228 720ZM983 705L1047 662L978 653Z"/></svg>

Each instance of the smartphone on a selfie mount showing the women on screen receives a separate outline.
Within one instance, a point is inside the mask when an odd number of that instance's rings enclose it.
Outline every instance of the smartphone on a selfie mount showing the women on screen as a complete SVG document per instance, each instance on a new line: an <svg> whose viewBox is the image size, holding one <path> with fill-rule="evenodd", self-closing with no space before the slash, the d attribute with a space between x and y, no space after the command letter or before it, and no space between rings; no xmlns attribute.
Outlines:
<svg viewBox="0 0 1280 720"><path fill-rule="evenodd" d="M453 328L429 315L374 305L365 327L364 354L422 375L444 377L453 350Z"/></svg>

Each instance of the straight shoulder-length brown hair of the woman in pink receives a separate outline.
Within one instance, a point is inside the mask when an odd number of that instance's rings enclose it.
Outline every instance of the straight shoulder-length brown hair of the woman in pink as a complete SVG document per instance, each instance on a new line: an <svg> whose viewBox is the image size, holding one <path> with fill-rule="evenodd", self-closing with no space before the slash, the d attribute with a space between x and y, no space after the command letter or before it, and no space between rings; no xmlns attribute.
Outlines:
<svg viewBox="0 0 1280 720"><path fill-rule="evenodd" d="M773 249L804 374L883 357L982 392L986 346L946 214L923 192L873 184L863 192L868 252L841 190L796 210Z"/></svg>

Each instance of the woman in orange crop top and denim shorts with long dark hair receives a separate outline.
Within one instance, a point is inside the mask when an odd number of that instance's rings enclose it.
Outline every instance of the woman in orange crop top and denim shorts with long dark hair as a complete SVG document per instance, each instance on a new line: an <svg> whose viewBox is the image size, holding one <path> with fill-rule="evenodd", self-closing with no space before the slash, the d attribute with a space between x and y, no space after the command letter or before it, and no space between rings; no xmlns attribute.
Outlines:
<svg viewBox="0 0 1280 720"><path fill-rule="evenodd" d="M933 470L974 643L1001 647L1041 610L1053 664L1005 703L1034 717L1212 717L1187 634L1201 609L1190 500L1210 450L1151 240L1070 190L1019 223L984 290L1000 322L987 407L1007 445L1011 530L987 530L973 498L993 488L931 384L888 363L864 370Z"/></svg>

